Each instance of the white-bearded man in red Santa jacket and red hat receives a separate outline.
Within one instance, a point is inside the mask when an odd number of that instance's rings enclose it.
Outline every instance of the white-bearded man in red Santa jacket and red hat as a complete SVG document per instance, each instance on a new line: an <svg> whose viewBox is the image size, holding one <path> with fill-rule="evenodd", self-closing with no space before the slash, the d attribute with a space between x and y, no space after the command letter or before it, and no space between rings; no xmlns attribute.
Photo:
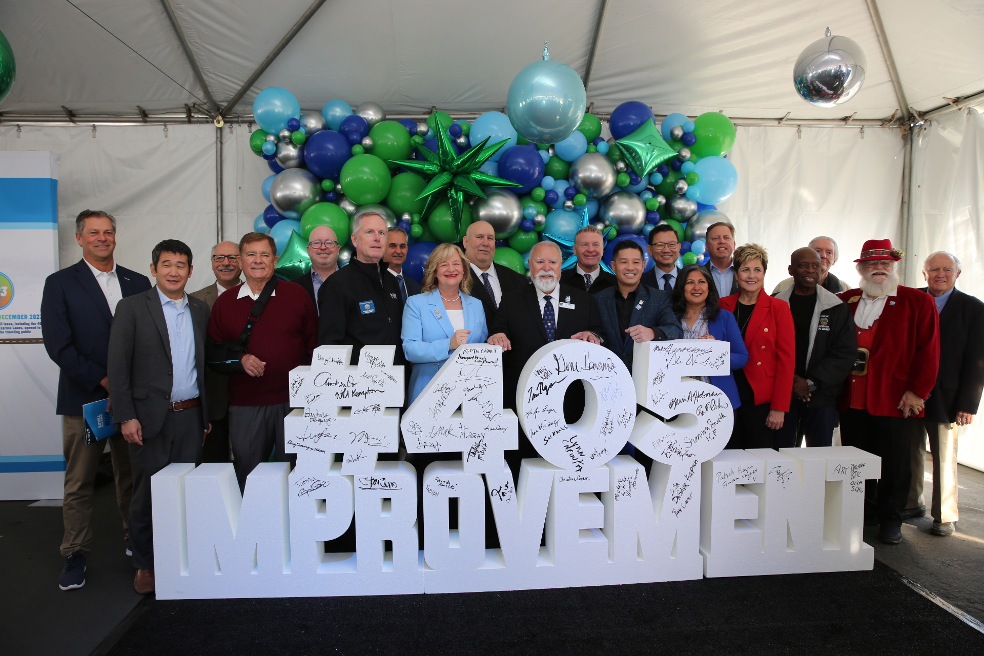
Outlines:
<svg viewBox="0 0 984 656"><path fill-rule="evenodd" d="M940 321L933 297L898 284L895 263L902 253L888 239L869 239L857 263L859 289L839 294L854 317L858 355L837 409L840 442L882 458L882 478L869 482L866 514L874 510L879 540L902 540L902 510L912 469L913 417L936 385L940 365Z"/></svg>

